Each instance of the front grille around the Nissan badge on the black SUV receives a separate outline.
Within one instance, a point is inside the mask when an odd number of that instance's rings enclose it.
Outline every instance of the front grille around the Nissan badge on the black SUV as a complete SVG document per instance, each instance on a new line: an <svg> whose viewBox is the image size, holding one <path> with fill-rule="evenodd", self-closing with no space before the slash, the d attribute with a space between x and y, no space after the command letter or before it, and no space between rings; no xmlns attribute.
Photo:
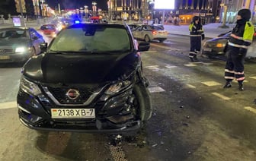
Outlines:
<svg viewBox="0 0 256 161"><path fill-rule="evenodd" d="M98 89L98 86L83 86L83 85L76 85L76 86L67 86L67 85L53 85L47 84L46 85L49 92L54 96L55 99L59 101L61 104L83 104L87 101L87 99L94 93L95 90ZM79 96L76 99L70 99L67 96L67 92L70 89L78 90Z"/></svg>

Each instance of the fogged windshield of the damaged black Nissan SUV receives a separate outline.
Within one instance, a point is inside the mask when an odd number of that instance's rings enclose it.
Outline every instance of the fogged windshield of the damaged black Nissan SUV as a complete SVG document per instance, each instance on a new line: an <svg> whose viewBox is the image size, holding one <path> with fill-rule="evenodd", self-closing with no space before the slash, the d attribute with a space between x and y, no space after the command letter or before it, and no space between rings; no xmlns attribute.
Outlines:
<svg viewBox="0 0 256 161"><path fill-rule="evenodd" d="M118 52L130 51L125 29L91 26L62 30L50 46L51 52Z"/></svg>

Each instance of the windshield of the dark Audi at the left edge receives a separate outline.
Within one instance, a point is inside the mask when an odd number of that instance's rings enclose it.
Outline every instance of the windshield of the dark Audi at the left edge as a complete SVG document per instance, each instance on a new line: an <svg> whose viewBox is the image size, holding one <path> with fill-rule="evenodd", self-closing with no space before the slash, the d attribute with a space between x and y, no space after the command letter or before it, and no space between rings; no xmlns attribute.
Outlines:
<svg viewBox="0 0 256 161"><path fill-rule="evenodd" d="M25 30L0 30L0 38L27 38Z"/></svg>

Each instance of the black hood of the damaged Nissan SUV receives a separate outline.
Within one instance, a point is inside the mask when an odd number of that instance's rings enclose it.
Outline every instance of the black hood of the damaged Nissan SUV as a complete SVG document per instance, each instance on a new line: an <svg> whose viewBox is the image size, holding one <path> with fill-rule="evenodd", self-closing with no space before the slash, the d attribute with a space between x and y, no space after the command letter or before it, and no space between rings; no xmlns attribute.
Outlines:
<svg viewBox="0 0 256 161"><path fill-rule="evenodd" d="M139 63L139 55L42 54L24 65L24 76L43 83L95 84L117 80L130 74Z"/></svg>

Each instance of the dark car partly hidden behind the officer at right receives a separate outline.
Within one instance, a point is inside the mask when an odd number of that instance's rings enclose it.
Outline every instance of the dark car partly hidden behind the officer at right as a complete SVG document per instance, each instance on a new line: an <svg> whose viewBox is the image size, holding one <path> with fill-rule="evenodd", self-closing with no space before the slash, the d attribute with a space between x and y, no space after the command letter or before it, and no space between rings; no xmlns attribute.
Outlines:
<svg viewBox="0 0 256 161"><path fill-rule="evenodd" d="M226 43L229 40L231 35L231 31L227 33L221 33L218 37L209 39L205 43L203 43L202 54L206 55L209 58L226 58L225 53L223 52ZM246 58L256 58L256 42L254 39L251 43L251 46L248 48L248 52Z"/></svg>

